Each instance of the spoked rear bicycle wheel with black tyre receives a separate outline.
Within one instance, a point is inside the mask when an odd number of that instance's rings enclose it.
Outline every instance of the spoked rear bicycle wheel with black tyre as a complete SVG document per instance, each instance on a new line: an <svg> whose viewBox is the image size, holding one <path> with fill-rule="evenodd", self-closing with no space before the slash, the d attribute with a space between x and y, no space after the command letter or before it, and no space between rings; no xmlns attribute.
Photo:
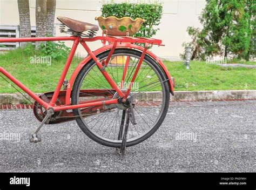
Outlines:
<svg viewBox="0 0 256 190"><path fill-rule="evenodd" d="M109 55L109 51L103 52L97 58L100 63L104 62ZM110 74L114 82L125 93L130 85L131 78L138 65L142 52L131 49L116 49L113 52L106 71ZM121 83L125 70L125 63L129 62L125 76L125 83ZM108 96L94 96L86 94L81 97L84 89L96 89ZM169 85L161 67L149 56L145 56L140 66L137 78L133 83L130 93L132 104L134 105L134 115L137 125L129 124L127 133L126 146L133 146L149 138L157 131L166 116L170 101ZM79 72L72 90L72 105L81 103L81 101L94 101L102 99L118 98L118 95L106 79L99 71L94 60L87 63ZM90 109L92 109L90 107ZM120 124L122 123L122 115L125 108L112 105L110 108L105 107L93 112L90 117L84 116L83 109L73 110L77 124L82 131L92 140L99 144L120 147L122 139L120 139ZM127 114L126 118L127 119ZM122 135L121 135L122 136Z"/></svg>

